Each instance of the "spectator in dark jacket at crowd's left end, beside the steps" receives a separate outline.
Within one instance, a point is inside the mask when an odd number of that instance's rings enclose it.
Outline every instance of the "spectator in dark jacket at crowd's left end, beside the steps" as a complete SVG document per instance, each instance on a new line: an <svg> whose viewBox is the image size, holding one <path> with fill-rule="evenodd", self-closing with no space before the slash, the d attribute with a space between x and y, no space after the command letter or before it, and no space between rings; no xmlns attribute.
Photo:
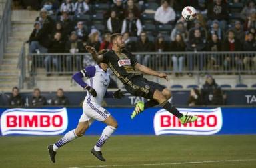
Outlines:
<svg viewBox="0 0 256 168"><path fill-rule="evenodd" d="M41 24L43 23L43 25L41 29L39 29L35 41L30 43L29 53L36 53L37 50L40 53L47 53L54 22L51 17L47 15L47 11L44 8L41 9L40 17L37 17L36 21L41 22Z"/></svg>

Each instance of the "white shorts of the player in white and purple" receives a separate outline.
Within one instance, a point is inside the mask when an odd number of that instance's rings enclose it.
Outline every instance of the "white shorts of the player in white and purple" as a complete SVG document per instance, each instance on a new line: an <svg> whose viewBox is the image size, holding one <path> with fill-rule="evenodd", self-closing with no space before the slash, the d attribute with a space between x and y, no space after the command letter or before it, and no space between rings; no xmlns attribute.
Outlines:
<svg viewBox="0 0 256 168"><path fill-rule="evenodd" d="M87 103L84 101L83 114L81 115L79 122L89 121L89 124L91 124L94 120L104 121L109 115L110 113L101 107L101 105L94 102Z"/></svg>

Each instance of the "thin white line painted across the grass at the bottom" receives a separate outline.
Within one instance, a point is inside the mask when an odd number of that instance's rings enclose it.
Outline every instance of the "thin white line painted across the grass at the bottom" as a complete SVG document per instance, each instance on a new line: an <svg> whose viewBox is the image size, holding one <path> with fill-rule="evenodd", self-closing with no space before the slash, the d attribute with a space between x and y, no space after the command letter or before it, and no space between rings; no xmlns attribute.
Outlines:
<svg viewBox="0 0 256 168"><path fill-rule="evenodd" d="M155 166L155 165L187 165L187 164L200 164L200 163L225 163L225 162L239 162L239 161L256 161L256 159L239 159L239 160L220 160L220 161L188 161L188 162L176 162L176 163L146 163L135 165L88 165L80 167L69 168L93 168L93 167L136 167L136 166Z"/></svg>

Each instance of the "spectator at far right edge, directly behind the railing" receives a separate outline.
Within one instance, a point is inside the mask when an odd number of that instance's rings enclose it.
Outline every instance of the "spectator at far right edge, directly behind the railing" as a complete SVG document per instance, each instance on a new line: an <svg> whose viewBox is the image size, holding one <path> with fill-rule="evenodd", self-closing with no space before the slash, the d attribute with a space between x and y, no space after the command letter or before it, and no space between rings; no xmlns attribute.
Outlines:
<svg viewBox="0 0 256 168"><path fill-rule="evenodd" d="M256 51L256 41L253 33L248 34L248 39L243 44L244 51ZM256 69L256 56L255 55L246 55L243 58L243 65L246 70L249 70L253 66L253 69Z"/></svg>

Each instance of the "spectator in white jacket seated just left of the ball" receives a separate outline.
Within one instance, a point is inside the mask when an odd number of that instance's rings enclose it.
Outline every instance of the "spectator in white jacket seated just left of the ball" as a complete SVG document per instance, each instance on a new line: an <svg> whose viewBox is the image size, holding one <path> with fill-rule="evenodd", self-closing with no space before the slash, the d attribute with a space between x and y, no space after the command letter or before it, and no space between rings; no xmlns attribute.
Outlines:
<svg viewBox="0 0 256 168"><path fill-rule="evenodd" d="M157 11L155 11L155 21L160 24L173 24L175 18L175 11L169 6L169 1L162 0L161 7L159 7Z"/></svg>

